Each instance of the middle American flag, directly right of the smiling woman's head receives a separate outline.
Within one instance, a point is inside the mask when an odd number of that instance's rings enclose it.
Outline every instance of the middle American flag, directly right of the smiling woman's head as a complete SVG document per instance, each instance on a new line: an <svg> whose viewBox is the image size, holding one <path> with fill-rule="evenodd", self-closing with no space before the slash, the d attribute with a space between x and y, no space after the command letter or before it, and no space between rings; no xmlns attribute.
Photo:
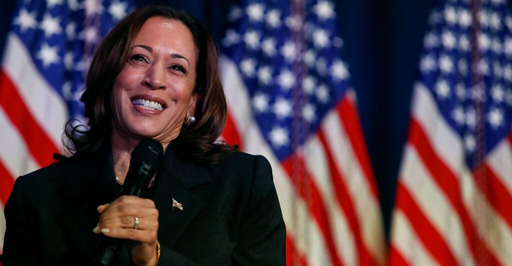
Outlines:
<svg viewBox="0 0 512 266"><path fill-rule="evenodd" d="M221 42L230 144L263 154L288 265L381 265L385 240L330 1L242 1Z"/></svg>

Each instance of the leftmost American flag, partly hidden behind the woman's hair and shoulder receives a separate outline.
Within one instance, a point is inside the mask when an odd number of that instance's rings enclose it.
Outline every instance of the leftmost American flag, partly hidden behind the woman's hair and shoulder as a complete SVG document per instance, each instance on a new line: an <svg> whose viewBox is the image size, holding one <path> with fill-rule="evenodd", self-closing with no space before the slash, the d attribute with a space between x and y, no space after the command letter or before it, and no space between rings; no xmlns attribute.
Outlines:
<svg viewBox="0 0 512 266"><path fill-rule="evenodd" d="M52 163L95 48L132 9L123 0L18 0L0 72L0 251L3 206L17 176Z"/></svg>

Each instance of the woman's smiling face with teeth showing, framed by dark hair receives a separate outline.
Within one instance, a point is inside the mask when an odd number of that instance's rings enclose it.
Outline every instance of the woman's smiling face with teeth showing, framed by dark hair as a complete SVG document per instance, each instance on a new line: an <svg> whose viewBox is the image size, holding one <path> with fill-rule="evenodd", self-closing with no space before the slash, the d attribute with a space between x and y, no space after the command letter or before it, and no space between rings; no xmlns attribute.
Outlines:
<svg viewBox="0 0 512 266"><path fill-rule="evenodd" d="M114 136L168 144L194 115L195 80L196 46L188 28L178 20L148 19L114 82Z"/></svg>

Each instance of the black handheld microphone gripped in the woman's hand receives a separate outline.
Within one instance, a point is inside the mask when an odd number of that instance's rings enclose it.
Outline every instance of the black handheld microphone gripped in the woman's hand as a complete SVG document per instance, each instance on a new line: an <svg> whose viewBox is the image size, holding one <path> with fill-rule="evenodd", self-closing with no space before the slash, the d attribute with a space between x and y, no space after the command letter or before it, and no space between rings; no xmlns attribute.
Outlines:
<svg viewBox="0 0 512 266"><path fill-rule="evenodd" d="M157 140L142 139L132 151L130 167L124 179L119 196L133 195L143 197L151 178L162 163L163 147ZM123 239L103 235L95 265L110 265L117 256Z"/></svg>

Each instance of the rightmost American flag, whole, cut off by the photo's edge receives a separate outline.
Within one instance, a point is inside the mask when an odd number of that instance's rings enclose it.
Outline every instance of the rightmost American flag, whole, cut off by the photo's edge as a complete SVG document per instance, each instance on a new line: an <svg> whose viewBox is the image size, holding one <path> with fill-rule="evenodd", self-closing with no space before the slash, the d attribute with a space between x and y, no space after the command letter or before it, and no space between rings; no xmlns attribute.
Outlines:
<svg viewBox="0 0 512 266"><path fill-rule="evenodd" d="M441 1L424 38L390 265L512 263L512 16Z"/></svg>

